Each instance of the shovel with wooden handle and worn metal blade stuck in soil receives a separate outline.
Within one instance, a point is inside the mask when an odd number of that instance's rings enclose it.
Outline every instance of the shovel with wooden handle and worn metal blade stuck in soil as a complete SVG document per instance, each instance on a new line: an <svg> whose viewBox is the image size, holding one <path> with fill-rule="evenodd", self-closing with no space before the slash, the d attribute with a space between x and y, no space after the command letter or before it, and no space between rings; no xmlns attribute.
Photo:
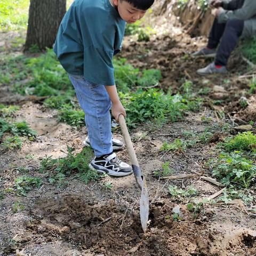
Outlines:
<svg viewBox="0 0 256 256"><path fill-rule="evenodd" d="M121 130L123 133L125 145L127 147L130 160L132 163L132 170L133 174L135 176L135 180L139 185L139 188L141 190L141 196L140 196L140 221L141 226L143 229L143 232L146 233L147 231L147 223L148 223L148 215L149 215L149 199L148 199L148 188L145 177L143 177L139 163L134 151L134 148L132 146L131 137L129 135L124 116L121 114L118 117L119 125L121 126Z"/></svg>

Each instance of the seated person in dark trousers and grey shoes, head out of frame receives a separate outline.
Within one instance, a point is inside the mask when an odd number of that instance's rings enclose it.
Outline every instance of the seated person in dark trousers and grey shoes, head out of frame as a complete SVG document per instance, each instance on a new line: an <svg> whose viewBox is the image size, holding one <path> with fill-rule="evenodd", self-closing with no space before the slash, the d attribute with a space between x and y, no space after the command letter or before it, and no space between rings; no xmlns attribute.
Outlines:
<svg viewBox="0 0 256 256"><path fill-rule="evenodd" d="M197 70L199 75L226 73L227 62L239 38L256 36L256 0L212 0L215 20L207 46L194 56L212 56L215 61ZM218 49L217 46L219 45Z"/></svg>

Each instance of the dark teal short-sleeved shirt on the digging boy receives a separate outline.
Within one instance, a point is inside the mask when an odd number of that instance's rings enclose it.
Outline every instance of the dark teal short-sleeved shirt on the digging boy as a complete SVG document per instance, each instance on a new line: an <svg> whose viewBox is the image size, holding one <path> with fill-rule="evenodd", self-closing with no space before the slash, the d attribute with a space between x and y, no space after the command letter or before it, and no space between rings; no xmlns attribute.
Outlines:
<svg viewBox="0 0 256 256"><path fill-rule="evenodd" d="M125 21L109 0L75 0L65 14L54 52L71 75L114 85L113 55L122 47Z"/></svg>

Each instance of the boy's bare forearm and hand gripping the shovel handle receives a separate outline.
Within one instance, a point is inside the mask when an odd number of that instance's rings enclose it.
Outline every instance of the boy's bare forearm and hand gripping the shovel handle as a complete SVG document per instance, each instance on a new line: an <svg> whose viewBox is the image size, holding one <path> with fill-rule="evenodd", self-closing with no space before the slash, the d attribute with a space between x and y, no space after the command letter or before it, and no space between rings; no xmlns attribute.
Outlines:
<svg viewBox="0 0 256 256"><path fill-rule="evenodd" d="M105 88L112 102L111 113L115 117L116 122L118 122L119 115L123 114L126 116L126 112L121 101L119 100L116 85L106 85Z"/></svg>

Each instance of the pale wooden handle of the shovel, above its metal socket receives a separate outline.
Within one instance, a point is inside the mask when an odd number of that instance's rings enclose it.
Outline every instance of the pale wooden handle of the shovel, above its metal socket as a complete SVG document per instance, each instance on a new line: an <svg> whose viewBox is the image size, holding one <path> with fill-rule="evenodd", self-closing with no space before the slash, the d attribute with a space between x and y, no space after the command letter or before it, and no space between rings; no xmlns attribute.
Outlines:
<svg viewBox="0 0 256 256"><path fill-rule="evenodd" d="M136 154L135 154L135 151L134 151L134 148L132 145L132 140L131 140L130 134L128 132L127 125L125 123L124 115L122 115L122 114L119 115L118 122L119 122L119 125L121 126L125 145L127 147L127 150L128 150L128 153L129 153L129 156L131 159L131 163L132 163L132 165L139 166L139 162L138 162L138 159L136 157Z"/></svg>

